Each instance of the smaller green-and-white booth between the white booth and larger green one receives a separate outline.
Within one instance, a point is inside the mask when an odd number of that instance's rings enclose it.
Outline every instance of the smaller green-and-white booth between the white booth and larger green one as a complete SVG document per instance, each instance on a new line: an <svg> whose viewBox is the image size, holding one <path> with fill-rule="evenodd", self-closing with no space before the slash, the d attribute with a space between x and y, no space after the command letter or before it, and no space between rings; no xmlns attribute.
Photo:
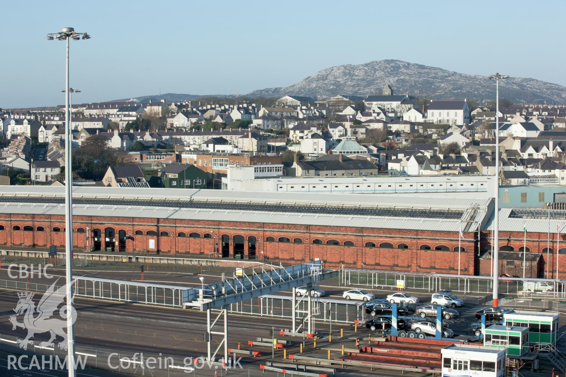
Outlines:
<svg viewBox="0 0 566 377"><path fill-rule="evenodd" d="M486 347L503 347L507 349L509 355L522 356L524 352L528 352L528 337L529 328L527 327L494 324L486 327L483 345Z"/></svg>

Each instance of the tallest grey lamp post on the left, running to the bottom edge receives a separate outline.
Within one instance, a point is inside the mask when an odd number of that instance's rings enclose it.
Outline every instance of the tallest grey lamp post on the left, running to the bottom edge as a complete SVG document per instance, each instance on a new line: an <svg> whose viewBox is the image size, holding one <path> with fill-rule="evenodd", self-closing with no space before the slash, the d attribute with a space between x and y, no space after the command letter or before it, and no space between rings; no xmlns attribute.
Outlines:
<svg viewBox="0 0 566 377"><path fill-rule="evenodd" d="M65 89L69 89L69 41L89 39L87 33L77 33L74 28L63 28L59 33L50 33L45 37L48 41L57 39L67 42L66 49L66 69L65 69ZM65 275L67 284L67 370L69 377L75 377L75 331L73 327L73 303L72 303L72 159L71 159L71 125L69 116L69 94L65 92Z"/></svg>

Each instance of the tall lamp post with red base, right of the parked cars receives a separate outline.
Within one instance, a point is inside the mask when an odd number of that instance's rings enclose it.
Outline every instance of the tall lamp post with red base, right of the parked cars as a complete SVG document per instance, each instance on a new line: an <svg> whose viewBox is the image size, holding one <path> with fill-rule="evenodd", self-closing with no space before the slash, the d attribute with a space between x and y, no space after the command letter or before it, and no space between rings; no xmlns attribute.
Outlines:
<svg viewBox="0 0 566 377"><path fill-rule="evenodd" d="M508 75L495 73L487 76L490 80L495 80L495 219L494 219L494 301L493 306L497 306L499 288L499 80L507 79Z"/></svg>

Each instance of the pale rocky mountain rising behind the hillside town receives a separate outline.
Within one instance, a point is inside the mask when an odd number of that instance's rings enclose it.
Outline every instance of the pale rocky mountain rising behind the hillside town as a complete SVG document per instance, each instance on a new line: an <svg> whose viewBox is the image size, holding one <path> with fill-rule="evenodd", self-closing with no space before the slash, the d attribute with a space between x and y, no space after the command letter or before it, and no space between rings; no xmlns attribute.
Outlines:
<svg viewBox="0 0 566 377"><path fill-rule="evenodd" d="M394 94L409 93L432 99L494 99L495 82L480 75L466 75L402 60L376 60L325 68L286 88L254 90L250 97L381 94L391 84ZM509 77L499 86L500 98L515 103L566 103L566 87L535 79Z"/></svg>

